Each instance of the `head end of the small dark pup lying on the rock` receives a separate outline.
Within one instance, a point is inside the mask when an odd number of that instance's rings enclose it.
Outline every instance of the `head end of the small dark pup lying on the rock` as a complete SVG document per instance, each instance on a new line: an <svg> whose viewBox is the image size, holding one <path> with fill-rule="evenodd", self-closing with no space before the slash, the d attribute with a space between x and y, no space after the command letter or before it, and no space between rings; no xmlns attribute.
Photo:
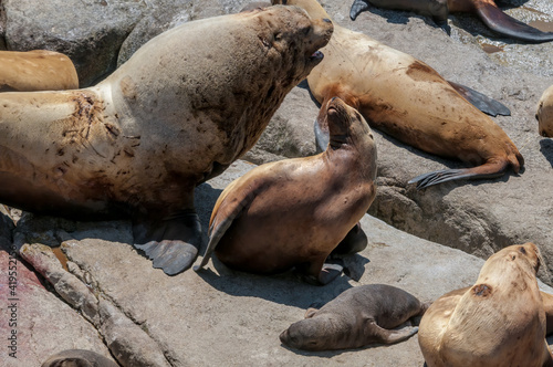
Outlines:
<svg viewBox="0 0 553 367"><path fill-rule="evenodd" d="M337 319L332 315L322 314L309 317L290 325L280 334L282 344L302 350L340 349L345 334L340 333Z"/></svg>

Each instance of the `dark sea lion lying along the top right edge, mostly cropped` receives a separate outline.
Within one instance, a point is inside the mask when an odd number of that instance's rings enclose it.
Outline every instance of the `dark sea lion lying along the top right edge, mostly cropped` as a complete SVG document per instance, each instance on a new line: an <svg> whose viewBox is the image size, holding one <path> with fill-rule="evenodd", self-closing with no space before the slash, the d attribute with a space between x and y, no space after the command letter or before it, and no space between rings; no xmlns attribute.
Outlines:
<svg viewBox="0 0 553 367"><path fill-rule="evenodd" d="M553 32L542 32L505 14L493 0L355 0L349 10L349 18L355 20L371 6L414 11L432 17L437 23L447 22L450 12L471 12L476 13L489 29L501 35L525 42L553 41Z"/></svg>

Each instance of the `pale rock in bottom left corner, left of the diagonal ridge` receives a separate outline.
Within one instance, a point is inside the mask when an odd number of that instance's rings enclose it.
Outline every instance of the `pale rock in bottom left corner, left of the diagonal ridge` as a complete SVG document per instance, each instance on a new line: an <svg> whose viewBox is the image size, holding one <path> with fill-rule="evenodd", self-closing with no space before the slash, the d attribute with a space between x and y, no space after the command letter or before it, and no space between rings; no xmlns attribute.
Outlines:
<svg viewBox="0 0 553 367"><path fill-rule="evenodd" d="M0 277L3 280L0 335L4 340L0 365L40 366L49 356L72 348L109 357L97 331L44 287L43 281L15 255L12 229L11 219L0 213Z"/></svg>

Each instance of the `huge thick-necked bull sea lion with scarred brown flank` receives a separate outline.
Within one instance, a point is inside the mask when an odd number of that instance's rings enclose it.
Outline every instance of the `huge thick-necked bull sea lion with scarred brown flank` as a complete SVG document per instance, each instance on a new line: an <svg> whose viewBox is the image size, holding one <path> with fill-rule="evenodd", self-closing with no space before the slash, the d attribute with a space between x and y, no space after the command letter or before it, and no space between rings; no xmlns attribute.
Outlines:
<svg viewBox="0 0 553 367"><path fill-rule="evenodd" d="M94 87L0 95L0 202L71 218L132 216L167 274L197 255L197 185L259 139L321 62L333 25L300 8L184 23Z"/></svg>

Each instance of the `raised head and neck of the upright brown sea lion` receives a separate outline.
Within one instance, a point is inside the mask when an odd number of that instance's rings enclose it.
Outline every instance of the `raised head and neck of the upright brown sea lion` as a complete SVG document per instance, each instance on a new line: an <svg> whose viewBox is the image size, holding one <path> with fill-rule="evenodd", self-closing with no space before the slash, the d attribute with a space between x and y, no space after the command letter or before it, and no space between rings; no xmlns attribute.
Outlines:
<svg viewBox="0 0 553 367"><path fill-rule="evenodd" d="M332 153L336 149L356 149L363 157L363 166L371 172L371 179L376 179L376 144L373 132L361 113L348 106L338 97L328 101L326 107L326 122L328 124L328 148Z"/></svg>

